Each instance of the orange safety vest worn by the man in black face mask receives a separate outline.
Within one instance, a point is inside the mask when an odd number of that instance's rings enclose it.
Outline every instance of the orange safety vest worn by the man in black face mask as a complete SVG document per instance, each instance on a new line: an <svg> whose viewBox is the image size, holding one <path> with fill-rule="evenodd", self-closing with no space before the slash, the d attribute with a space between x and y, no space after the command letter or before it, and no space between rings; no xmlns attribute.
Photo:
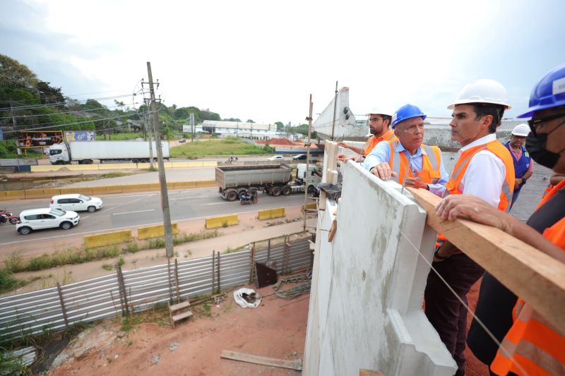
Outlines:
<svg viewBox="0 0 565 376"><path fill-rule="evenodd" d="M557 184L545 195L538 208L564 187L565 181ZM545 229L543 236L565 250L565 217ZM504 337L502 348L509 354L503 354L500 350L496 353L490 366L496 375L506 375L508 372L517 375L565 375L565 336L522 298L516 302L514 324Z"/></svg>

